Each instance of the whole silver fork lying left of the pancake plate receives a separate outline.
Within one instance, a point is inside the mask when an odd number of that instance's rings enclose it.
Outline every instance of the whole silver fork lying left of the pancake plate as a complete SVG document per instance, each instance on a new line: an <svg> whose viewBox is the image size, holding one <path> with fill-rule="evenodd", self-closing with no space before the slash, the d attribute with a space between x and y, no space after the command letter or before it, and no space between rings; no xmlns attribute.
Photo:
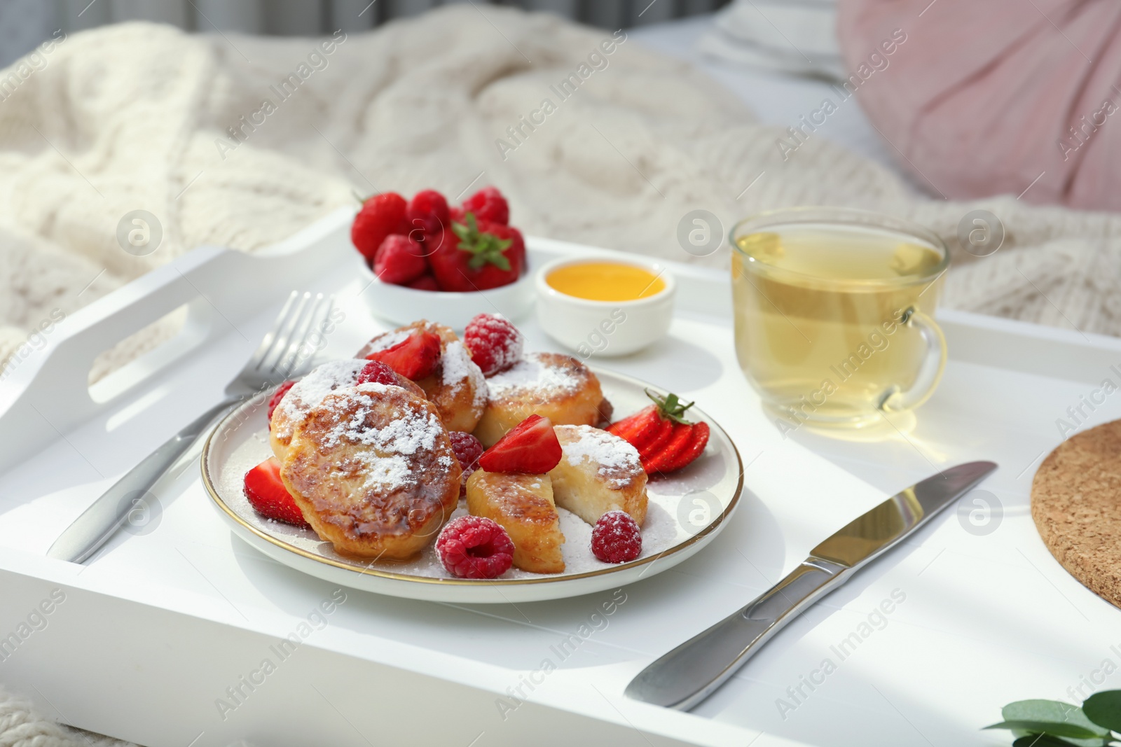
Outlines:
<svg viewBox="0 0 1121 747"><path fill-rule="evenodd" d="M305 345L322 330L333 300L323 293L293 291L257 352L225 387L225 399L198 415L101 494L47 551L50 558L84 562L124 524L148 506L148 491L209 430L220 414L244 400L270 392L287 379L307 373L315 357Z"/></svg>

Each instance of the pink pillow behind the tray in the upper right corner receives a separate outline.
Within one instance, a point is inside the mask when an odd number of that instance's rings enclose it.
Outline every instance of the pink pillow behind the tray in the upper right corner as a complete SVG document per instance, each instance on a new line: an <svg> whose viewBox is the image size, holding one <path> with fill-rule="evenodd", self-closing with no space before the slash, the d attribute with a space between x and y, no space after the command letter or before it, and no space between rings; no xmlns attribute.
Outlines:
<svg viewBox="0 0 1121 747"><path fill-rule="evenodd" d="M935 192L1121 209L1117 0L840 0L837 30L847 87Z"/></svg>

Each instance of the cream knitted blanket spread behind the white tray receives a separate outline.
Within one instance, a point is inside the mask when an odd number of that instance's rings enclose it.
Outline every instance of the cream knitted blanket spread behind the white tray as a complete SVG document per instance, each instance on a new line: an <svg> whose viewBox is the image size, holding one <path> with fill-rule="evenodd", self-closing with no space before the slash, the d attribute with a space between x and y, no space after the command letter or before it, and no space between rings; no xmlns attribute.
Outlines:
<svg viewBox="0 0 1121 747"><path fill-rule="evenodd" d="M328 41L148 24L58 37L0 72L0 360L200 244L260 249L352 192L485 184L526 233L714 267L726 248L695 258L676 240L689 211L726 230L779 206L859 206L956 248L963 216L985 208L1004 244L983 259L955 249L948 306L1121 334L1118 216L1015 196L917 200L819 136L784 159L780 131L622 31L460 4ZM163 231L145 256L118 241L136 209ZM138 336L101 370L167 334ZM82 744L12 739L2 723L0 744Z"/></svg>

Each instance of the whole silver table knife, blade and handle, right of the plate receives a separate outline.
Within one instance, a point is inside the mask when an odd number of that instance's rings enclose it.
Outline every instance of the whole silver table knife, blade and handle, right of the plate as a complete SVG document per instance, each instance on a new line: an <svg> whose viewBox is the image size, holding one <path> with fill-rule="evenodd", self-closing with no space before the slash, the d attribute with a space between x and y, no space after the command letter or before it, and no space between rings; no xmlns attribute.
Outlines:
<svg viewBox="0 0 1121 747"><path fill-rule="evenodd" d="M693 708L802 610L969 493L994 469L992 461L951 467L856 517L810 550L789 576L747 607L642 670L627 685L627 697L678 710Z"/></svg>

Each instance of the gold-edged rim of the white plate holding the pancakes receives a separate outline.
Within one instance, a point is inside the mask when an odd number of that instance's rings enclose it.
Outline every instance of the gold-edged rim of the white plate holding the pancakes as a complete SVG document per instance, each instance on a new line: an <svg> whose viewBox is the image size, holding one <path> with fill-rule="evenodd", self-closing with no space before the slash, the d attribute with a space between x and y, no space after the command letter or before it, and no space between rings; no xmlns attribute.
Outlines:
<svg viewBox="0 0 1121 747"><path fill-rule="evenodd" d="M590 365L587 367L596 376L606 375L608 377L611 379L623 380L627 383L636 384L642 389L649 389L656 391L663 395L667 393L667 391L661 389L660 386L655 386L649 382L638 379L637 376L631 376L628 374L619 373L617 371L611 371L610 368L601 368L600 366L594 366L594 365ZM696 534L689 536L687 540L683 542L679 542L678 544L675 544L670 548L666 548L661 552L648 555L646 558L639 558L638 560L631 560L626 563L619 563L618 566L613 566L611 568L600 568L597 570L584 571L583 573L573 573L568 576L553 576L553 575L541 573L540 575L541 578L510 578L510 579L483 580L483 579L434 578L430 576L413 576L410 573L395 573L392 571L374 570L370 567L359 570L353 564L345 563L335 560L333 558L324 558L323 555L309 552L307 550L304 550L303 548L298 548L279 538L272 536L267 532L262 532L261 530L257 529L256 526L247 522L244 519L242 519L241 515L238 514L238 512L233 511L225 503L225 501L222 499L222 496L219 495L217 489L211 482L210 470L207 469L207 464L210 463L210 456L211 456L211 443L214 439L214 436L220 430L222 430L222 427L225 426L226 421L237 415L239 412L241 412L245 407L253 404L254 400L256 398L249 398L244 402L241 402L240 404L234 407L214 426L214 428L211 429L211 432L206 436L206 441L205 443L203 443L203 450L198 459L200 470L202 471L203 486L206 488L206 493L210 494L211 499L217 505L219 508L225 512L225 514L230 519L232 519L242 529L248 530L251 534L254 534L256 536L269 542L270 544L274 544L282 550L293 552L307 560L314 560L324 563L326 566L333 566L334 568L348 570L353 573L358 573L359 576L373 576L392 581L409 581L414 583L432 583L436 586L458 586L458 587L479 587L479 586L509 587L509 586L529 586L534 583L559 583L564 581L577 581L580 579L605 576L608 573L615 573L622 570L628 570L631 568L638 568L640 566L645 566L647 563L652 563L656 560L659 560L667 555L676 554L682 550L685 550L686 548L695 544L696 542L700 542L701 540L703 540L704 538L716 531L716 529L728 520L728 517L732 514L735 507L740 504L740 498L743 496L744 469L743 469L743 458L740 456L740 449L739 447L735 446L735 441L733 441L732 437L728 435L728 431L724 430L723 426L716 422L714 418L705 413L710 418L710 427L714 426L728 441L729 446L732 447L732 455L735 456L735 464L739 467L739 473L740 473L739 480L735 485L735 491L732 494L732 499L729 502L728 506L720 513L719 516L710 521L708 524ZM377 559L374 559L372 562L377 562Z"/></svg>

